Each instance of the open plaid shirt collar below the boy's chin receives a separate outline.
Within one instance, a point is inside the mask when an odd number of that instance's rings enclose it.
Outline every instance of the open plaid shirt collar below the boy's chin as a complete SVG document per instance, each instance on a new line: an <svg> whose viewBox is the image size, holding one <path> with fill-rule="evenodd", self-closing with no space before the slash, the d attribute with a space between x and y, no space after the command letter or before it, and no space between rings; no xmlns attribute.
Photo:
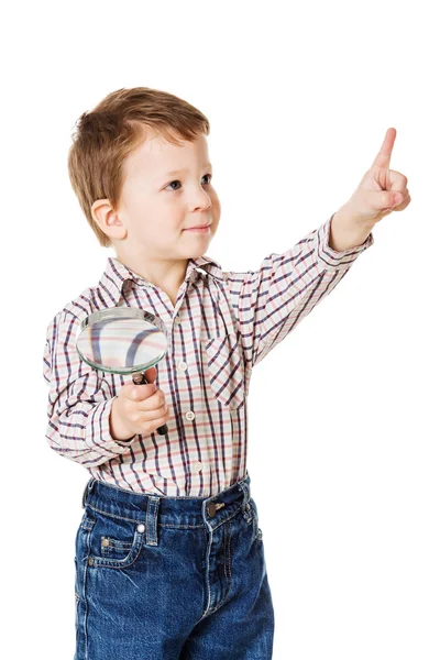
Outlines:
<svg viewBox="0 0 440 660"><path fill-rule="evenodd" d="M223 279L223 271L221 265L208 255L188 260L185 282L189 280L195 271L200 273L204 278L210 276L215 279ZM196 274L194 277L196 277ZM128 279L132 279L136 284L144 286L150 284L147 280L141 277L141 275L138 275L131 271L118 258L114 256L109 256L107 260L106 270L99 280L99 287L110 306L118 305L122 296L124 283Z"/></svg>

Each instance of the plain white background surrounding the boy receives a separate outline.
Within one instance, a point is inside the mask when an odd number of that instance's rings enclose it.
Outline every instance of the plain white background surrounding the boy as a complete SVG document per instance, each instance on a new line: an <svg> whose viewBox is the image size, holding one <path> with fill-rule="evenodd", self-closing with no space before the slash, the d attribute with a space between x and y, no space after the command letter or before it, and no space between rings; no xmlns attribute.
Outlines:
<svg viewBox="0 0 440 660"><path fill-rule="evenodd" d="M384 218L337 289L254 370L249 471L276 660L439 659L433 11L338 0L3 9L8 658L74 654L74 539L89 475L46 443L42 354L53 316L97 284L113 252L81 215L67 151L81 112L146 86L210 120L222 216L207 253L226 271L257 268L320 226L397 130L391 167L413 201Z"/></svg>

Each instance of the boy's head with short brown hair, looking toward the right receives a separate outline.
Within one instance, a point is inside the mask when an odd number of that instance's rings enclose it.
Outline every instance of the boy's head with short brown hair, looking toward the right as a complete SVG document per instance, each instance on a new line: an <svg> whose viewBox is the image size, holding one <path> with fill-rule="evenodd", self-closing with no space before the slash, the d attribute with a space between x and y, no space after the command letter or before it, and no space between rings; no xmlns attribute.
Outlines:
<svg viewBox="0 0 440 660"><path fill-rule="evenodd" d="M101 245L131 264L185 261L208 249L220 220L208 119L165 91L108 95L77 122L68 173ZM210 224L207 233L185 231Z"/></svg>

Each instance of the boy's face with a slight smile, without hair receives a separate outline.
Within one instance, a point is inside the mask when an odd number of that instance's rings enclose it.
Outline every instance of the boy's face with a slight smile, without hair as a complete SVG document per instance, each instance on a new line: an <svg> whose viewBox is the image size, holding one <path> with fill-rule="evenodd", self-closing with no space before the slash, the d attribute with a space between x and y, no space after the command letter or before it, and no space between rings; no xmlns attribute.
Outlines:
<svg viewBox="0 0 440 660"><path fill-rule="evenodd" d="M204 134L183 146L150 136L127 157L123 173L112 226L120 234L111 237L119 256L173 261L206 253L221 207ZM186 231L204 224L210 226L205 232Z"/></svg>

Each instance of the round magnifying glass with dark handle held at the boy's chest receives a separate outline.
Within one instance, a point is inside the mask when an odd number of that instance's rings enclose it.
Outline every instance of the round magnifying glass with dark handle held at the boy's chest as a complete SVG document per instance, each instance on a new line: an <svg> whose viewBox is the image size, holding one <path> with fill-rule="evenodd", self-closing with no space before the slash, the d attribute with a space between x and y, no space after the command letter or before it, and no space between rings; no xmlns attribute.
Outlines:
<svg viewBox="0 0 440 660"><path fill-rule="evenodd" d="M84 362L110 374L132 374L135 385L147 384L145 370L166 354L165 323L158 317L133 307L111 307L85 318L76 340ZM157 433L168 432L166 424Z"/></svg>

